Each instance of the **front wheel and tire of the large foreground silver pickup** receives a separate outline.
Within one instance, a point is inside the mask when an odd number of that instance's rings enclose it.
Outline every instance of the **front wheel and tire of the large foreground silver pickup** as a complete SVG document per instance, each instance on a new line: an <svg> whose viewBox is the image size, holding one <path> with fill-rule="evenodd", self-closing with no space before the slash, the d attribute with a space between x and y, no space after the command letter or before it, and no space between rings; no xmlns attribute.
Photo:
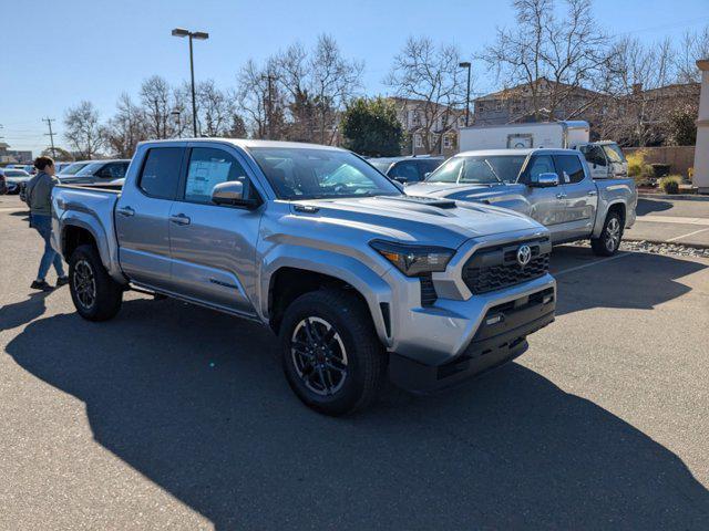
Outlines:
<svg viewBox="0 0 709 531"><path fill-rule="evenodd" d="M286 310L279 337L286 379L308 407L339 416L377 398L388 357L356 295L343 290L300 295ZM316 347L322 344L325 350Z"/></svg>

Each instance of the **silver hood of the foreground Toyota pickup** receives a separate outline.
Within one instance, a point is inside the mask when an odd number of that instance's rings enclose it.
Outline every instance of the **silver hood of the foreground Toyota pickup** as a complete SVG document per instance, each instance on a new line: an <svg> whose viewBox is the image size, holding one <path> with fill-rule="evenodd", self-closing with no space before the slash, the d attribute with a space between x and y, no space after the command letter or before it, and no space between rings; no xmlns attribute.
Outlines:
<svg viewBox="0 0 709 531"><path fill-rule="evenodd" d="M374 237L455 249L471 238L544 227L512 210L430 197L380 196L291 204L295 215L346 225Z"/></svg>

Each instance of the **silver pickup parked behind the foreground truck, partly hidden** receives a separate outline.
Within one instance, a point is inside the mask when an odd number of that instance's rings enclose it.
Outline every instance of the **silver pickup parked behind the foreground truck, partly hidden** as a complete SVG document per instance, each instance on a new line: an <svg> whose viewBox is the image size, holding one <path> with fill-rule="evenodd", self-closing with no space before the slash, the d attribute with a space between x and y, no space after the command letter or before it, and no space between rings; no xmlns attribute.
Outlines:
<svg viewBox="0 0 709 531"><path fill-rule="evenodd" d="M575 149L464 152L405 192L511 208L548 228L553 243L590 239L600 256L618 250L638 200L633 179L593 179Z"/></svg>

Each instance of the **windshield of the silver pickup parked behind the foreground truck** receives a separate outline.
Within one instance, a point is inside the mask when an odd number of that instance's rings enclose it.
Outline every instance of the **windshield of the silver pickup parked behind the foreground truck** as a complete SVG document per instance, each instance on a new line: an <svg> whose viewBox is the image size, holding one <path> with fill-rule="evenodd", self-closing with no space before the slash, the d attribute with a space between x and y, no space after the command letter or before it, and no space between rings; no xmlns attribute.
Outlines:
<svg viewBox="0 0 709 531"><path fill-rule="evenodd" d="M483 185L515 183L525 158L522 155L453 157L439 166L425 180L427 183L474 183Z"/></svg>

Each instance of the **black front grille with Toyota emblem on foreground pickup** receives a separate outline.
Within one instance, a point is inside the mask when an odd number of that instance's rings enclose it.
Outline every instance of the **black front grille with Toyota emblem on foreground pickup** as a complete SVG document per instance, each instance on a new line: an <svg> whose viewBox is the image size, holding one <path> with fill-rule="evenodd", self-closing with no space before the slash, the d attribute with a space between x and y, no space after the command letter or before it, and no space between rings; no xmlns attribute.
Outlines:
<svg viewBox="0 0 709 531"><path fill-rule="evenodd" d="M516 252L522 243L526 243L532 250L532 260L524 267L516 260ZM551 250L548 240L481 249L463 268L463 282L473 293L487 293L538 279L549 269Z"/></svg>

